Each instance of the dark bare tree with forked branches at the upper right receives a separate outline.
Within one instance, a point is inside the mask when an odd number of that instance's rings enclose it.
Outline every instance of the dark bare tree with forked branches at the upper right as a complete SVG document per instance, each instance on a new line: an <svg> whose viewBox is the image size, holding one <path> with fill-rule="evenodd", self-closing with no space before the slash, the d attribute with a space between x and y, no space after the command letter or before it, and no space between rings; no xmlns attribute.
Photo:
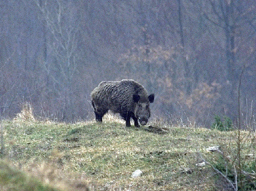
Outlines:
<svg viewBox="0 0 256 191"><path fill-rule="evenodd" d="M239 69L242 67L237 62L239 58L236 54L239 37L241 37L240 31L248 24L253 28L252 22L256 19L255 7L253 4L242 4L239 0L208 0L207 2L211 9L210 12L204 11L203 16L211 25L223 30L228 80L237 82Z"/></svg>

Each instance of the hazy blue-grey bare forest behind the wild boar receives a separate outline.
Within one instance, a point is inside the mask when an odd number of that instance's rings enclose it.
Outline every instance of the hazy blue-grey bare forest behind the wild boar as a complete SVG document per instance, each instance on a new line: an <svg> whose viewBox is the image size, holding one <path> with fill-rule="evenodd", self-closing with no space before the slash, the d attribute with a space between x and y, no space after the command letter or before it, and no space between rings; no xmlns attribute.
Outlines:
<svg viewBox="0 0 256 191"><path fill-rule="evenodd" d="M134 79L154 116L209 127L256 106L255 0L1 0L0 116L92 116L101 81ZM243 74L242 74L243 73ZM240 75L242 74L242 75Z"/></svg>

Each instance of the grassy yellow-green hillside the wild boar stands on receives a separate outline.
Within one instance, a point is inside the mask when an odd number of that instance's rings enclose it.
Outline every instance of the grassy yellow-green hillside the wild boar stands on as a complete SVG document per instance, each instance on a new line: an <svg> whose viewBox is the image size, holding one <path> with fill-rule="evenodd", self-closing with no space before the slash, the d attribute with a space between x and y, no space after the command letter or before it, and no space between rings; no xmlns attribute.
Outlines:
<svg viewBox="0 0 256 191"><path fill-rule="evenodd" d="M116 119L104 121L102 124L2 121L1 151L11 166L59 189L83 183L90 191L230 189L209 165L196 164L203 161L202 156L215 168L223 167L223 158L206 150L211 146L220 146L225 156L236 159L236 131L156 122L151 126L126 128ZM150 132L152 127L155 129ZM243 164L252 167L254 162L255 171L255 133L242 134ZM143 172L142 176L132 178L137 169ZM2 175L1 172L0 185L3 185ZM77 181L81 184L76 184Z"/></svg>

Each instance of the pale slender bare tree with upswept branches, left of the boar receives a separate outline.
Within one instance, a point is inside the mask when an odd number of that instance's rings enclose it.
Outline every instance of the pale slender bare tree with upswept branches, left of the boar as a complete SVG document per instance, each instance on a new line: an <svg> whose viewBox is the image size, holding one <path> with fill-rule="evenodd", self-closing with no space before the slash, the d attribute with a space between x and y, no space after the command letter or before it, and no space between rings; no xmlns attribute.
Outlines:
<svg viewBox="0 0 256 191"><path fill-rule="evenodd" d="M53 54L56 62L45 62L44 67L47 74L58 86L58 94L64 98L64 109L62 120L65 120L67 111L72 117L73 108L73 82L77 72L77 29L76 14L71 4L65 5L56 0L54 3L45 0L45 3L35 0L40 9L47 28L51 34L48 41L49 51ZM69 117L70 118L70 117Z"/></svg>

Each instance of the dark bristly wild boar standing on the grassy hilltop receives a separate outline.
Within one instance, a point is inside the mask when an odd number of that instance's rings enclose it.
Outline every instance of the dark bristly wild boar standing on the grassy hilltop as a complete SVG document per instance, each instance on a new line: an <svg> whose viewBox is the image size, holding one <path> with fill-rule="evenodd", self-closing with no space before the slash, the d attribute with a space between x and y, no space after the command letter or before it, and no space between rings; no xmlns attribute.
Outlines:
<svg viewBox="0 0 256 191"><path fill-rule="evenodd" d="M149 105L154 101L154 94L148 96L145 88L134 80L103 81L92 91L91 97L96 121L102 121L104 114L111 110L120 113L126 126L130 126L132 117L136 127L139 127L138 120L146 125L150 117Z"/></svg>

